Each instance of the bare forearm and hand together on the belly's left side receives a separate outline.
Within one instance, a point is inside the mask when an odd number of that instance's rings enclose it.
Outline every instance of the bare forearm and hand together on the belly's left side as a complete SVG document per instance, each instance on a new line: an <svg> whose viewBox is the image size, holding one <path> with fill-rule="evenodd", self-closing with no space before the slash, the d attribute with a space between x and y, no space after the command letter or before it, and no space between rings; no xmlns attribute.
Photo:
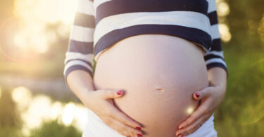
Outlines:
<svg viewBox="0 0 264 137"><path fill-rule="evenodd" d="M137 137L143 134L141 125L117 110L113 105L113 98L120 98L124 95L120 89L94 90L92 77L82 70L70 72L67 77L70 89L80 98L85 107L89 108L98 115L103 122L115 131L124 136Z"/></svg>

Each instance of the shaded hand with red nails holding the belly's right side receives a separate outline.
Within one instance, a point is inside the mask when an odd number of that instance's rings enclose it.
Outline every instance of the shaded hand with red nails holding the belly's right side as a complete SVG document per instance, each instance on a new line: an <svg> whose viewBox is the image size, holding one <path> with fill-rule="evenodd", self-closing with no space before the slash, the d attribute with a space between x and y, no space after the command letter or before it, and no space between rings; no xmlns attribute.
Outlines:
<svg viewBox="0 0 264 137"><path fill-rule="evenodd" d="M175 132L176 136L187 136L199 129L220 106L220 103L225 98L225 91L226 81L218 82L218 84L209 81L208 87L201 91L194 92L194 99L201 100L201 103L197 109L178 126Z"/></svg>

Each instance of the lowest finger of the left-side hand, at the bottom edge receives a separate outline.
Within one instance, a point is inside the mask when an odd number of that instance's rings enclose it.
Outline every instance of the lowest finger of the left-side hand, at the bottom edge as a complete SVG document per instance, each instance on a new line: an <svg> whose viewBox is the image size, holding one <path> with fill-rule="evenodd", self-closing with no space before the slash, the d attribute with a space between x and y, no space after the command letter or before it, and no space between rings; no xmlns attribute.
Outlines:
<svg viewBox="0 0 264 137"><path fill-rule="evenodd" d="M139 134L142 136L142 131L140 131L139 129L134 129L130 126L127 126L116 119L112 119L111 124L115 131L118 131L118 133L124 136L138 136Z"/></svg>

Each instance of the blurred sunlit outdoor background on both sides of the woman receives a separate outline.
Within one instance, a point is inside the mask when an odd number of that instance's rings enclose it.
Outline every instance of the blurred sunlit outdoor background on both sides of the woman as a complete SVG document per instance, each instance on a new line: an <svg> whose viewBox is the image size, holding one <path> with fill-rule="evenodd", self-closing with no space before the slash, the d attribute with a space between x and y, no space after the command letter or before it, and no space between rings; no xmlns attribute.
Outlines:
<svg viewBox="0 0 264 137"><path fill-rule="evenodd" d="M264 136L264 1L217 0L227 93L220 137ZM0 137L81 136L85 107L63 66L75 0L0 0Z"/></svg>

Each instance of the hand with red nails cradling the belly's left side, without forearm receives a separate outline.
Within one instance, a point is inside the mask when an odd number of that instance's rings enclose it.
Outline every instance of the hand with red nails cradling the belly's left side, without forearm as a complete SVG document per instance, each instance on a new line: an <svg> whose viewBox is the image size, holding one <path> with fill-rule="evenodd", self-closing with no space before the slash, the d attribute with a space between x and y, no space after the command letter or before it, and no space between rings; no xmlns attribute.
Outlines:
<svg viewBox="0 0 264 137"><path fill-rule="evenodd" d="M118 110L113 104L113 98L120 98L122 90L89 91L89 98L84 105L92 110L102 121L123 136L142 136L141 125Z"/></svg>

